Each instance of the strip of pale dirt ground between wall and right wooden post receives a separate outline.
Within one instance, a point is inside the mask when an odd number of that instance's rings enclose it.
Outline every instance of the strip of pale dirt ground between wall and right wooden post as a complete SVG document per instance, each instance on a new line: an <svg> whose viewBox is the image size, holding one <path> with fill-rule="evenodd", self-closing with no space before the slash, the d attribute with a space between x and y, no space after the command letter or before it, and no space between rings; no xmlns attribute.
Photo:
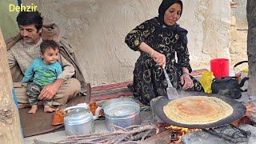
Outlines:
<svg viewBox="0 0 256 144"><path fill-rule="evenodd" d="M234 66L237 62L247 60L247 28L239 28L230 26L230 66ZM244 63L235 70L247 68L248 64Z"/></svg>

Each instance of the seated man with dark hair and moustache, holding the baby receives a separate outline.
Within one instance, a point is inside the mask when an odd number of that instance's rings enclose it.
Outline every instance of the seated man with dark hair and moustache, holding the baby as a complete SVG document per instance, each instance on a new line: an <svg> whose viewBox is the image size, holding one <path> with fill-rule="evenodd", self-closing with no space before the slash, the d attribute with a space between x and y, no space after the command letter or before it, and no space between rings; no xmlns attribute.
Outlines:
<svg viewBox="0 0 256 144"><path fill-rule="evenodd" d="M24 74L34 58L40 57L42 20L43 18L38 11L22 11L18 14L17 22L22 39L7 52L10 69L18 65ZM55 106L66 104L70 98L74 98L81 91L81 83L78 79L72 78L75 72L74 66L62 54L59 59L63 69L62 74L58 76L55 82L44 86L38 95L39 100L53 99ZM25 87L15 88L15 93L20 107L29 103Z"/></svg>

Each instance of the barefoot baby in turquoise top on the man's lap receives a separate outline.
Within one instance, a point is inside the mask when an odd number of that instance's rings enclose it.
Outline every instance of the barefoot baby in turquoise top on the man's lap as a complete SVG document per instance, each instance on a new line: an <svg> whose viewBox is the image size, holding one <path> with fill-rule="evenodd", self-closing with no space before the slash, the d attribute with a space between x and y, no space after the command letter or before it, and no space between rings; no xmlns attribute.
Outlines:
<svg viewBox="0 0 256 144"><path fill-rule="evenodd" d="M58 44L52 40L45 40L40 45L41 58L36 58L26 70L22 83L27 84L26 94L31 106L30 114L38 110L38 95L42 88L53 83L62 73L62 66L57 61L59 57ZM53 112L52 100L43 102L45 112Z"/></svg>

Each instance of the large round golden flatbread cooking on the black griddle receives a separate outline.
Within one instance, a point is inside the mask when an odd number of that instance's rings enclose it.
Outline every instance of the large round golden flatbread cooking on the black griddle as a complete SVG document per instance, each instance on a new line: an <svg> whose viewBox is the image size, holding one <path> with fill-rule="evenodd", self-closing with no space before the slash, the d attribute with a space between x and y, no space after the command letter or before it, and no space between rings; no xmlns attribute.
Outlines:
<svg viewBox="0 0 256 144"><path fill-rule="evenodd" d="M174 122L196 125L218 122L230 116L233 108L220 98L193 96L170 101L163 111Z"/></svg>

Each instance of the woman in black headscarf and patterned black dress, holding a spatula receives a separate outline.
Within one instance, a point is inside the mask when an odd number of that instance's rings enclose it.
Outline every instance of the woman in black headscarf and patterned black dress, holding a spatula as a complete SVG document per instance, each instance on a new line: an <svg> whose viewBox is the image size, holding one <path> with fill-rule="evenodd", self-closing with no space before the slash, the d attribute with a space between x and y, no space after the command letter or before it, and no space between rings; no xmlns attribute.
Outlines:
<svg viewBox="0 0 256 144"><path fill-rule="evenodd" d="M158 17L143 22L126 35L125 42L130 49L141 52L130 88L134 96L140 97L147 105L150 99L166 95L164 68L176 89L203 90L201 84L190 76L187 30L176 23L182 15L182 6L180 0L163 0ZM175 52L178 62L175 62Z"/></svg>

